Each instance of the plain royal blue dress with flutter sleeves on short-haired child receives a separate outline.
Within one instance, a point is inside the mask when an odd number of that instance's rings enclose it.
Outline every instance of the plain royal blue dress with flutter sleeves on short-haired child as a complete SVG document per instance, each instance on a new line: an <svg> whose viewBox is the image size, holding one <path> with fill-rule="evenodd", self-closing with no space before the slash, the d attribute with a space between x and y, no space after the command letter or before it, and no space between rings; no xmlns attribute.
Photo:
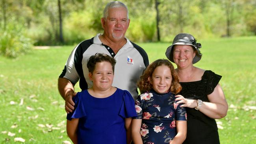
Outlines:
<svg viewBox="0 0 256 144"><path fill-rule="evenodd" d="M78 144L126 144L125 118L137 116L127 90L117 89L107 98L95 98L83 90L73 101L75 110L67 119L79 118Z"/></svg>

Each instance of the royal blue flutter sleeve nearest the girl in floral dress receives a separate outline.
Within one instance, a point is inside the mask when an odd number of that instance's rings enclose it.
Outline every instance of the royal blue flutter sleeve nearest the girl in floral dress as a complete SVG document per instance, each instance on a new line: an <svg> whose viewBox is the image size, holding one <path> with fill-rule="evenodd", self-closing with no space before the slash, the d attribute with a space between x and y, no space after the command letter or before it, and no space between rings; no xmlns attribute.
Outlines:
<svg viewBox="0 0 256 144"><path fill-rule="evenodd" d="M122 105L121 109L119 111L119 115L122 116L123 118L130 118L137 116L136 111L135 111L135 103L134 99L132 98L132 95L127 91L124 90L124 94L122 96Z"/></svg>

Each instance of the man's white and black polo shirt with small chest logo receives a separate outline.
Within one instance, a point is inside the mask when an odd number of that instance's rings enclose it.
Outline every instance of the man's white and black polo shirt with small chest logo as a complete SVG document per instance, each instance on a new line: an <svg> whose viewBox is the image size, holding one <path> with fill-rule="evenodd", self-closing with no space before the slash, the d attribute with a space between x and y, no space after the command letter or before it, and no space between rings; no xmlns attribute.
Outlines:
<svg viewBox="0 0 256 144"><path fill-rule="evenodd" d="M117 61L113 86L128 90L136 100L138 96L136 83L149 64L147 53L126 38L126 44L115 54L109 46L102 44L99 35L101 34L81 42L72 50L59 78L67 78L73 84L80 80L80 88L88 89L93 83L88 77L87 60L96 53L108 54Z"/></svg>

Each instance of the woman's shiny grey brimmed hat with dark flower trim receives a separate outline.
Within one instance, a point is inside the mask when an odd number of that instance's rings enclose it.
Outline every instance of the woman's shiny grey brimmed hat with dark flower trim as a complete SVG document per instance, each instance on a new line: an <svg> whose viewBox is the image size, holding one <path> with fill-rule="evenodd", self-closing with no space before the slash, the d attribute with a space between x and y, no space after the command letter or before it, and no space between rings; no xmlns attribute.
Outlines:
<svg viewBox="0 0 256 144"><path fill-rule="evenodd" d="M201 44L197 43L197 40L195 39L195 37L193 37L193 35L188 34L188 33L180 33L178 35L176 35L176 37L174 37L173 39L173 45L169 46L165 52L166 57L174 63L173 61L173 46L174 45L191 45L193 46L193 48L195 48L195 50L197 51L197 54L195 55L192 63L197 63L201 57L202 54L200 53L199 48L201 48Z"/></svg>

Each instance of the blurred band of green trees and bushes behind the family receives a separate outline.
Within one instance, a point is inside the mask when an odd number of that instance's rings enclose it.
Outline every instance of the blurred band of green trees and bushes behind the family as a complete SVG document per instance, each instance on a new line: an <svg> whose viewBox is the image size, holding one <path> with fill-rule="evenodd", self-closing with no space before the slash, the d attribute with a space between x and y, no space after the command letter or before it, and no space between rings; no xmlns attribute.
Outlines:
<svg viewBox="0 0 256 144"><path fill-rule="evenodd" d="M103 31L109 0L1 0L0 53L16 57L33 45L73 45ZM126 36L135 42L170 42L180 32L197 38L256 35L255 0L122 0Z"/></svg>

